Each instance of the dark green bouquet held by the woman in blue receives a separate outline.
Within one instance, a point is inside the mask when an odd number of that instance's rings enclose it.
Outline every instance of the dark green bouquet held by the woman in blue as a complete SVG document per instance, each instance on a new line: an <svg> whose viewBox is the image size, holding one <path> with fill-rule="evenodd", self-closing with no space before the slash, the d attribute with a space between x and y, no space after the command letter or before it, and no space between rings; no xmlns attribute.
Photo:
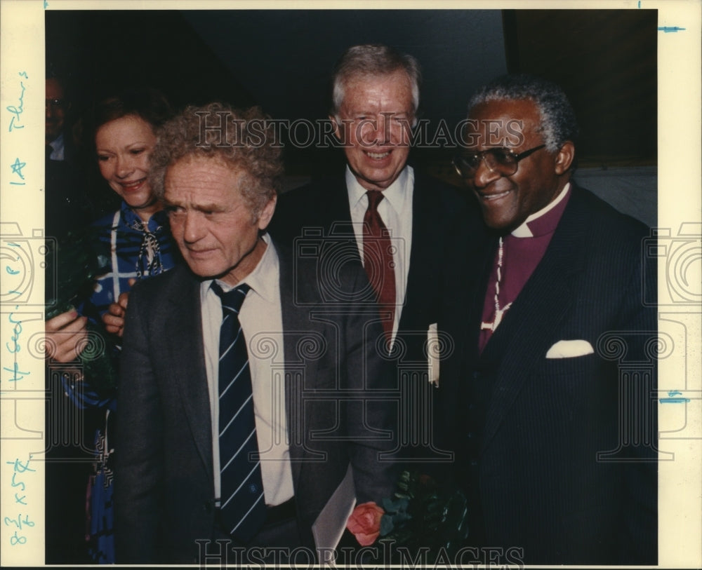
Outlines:
<svg viewBox="0 0 702 570"><path fill-rule="evenodd" d="M91 229L74 231L60 244L48 241L46 280L53 280L55 294L46 299L46 319L71 311L79 301L87 299L93 289L95 277L107 271L107 260L98 259L92 244L95 237ZM95 319L98 323L99 319ZM88 341L79 355L84 378L100 395L107 395L117 386L117 371L112 362L114 343L98 324L88 319Z"/></svg>

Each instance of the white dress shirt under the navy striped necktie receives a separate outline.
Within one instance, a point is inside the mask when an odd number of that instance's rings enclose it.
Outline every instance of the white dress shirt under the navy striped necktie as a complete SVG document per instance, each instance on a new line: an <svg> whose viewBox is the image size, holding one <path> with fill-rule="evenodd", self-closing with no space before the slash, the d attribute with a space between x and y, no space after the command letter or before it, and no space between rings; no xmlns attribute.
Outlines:
<svg viewBox="0 0 702 570"><path fill-rule="evenodd" d="M256 416L256 437L261 459L263 492L267 505L284 503L294 494L285 411L283 318L280 306L280 266L270 238L260 262L241 282L251 287L239 312L249 350L249 368ZM222 304L211 289L212 280L200 285L205 366L212 416L212 457L215 497L220 497L219 458L219 337ZM218 280L227 292L233 287Z"/></svg>

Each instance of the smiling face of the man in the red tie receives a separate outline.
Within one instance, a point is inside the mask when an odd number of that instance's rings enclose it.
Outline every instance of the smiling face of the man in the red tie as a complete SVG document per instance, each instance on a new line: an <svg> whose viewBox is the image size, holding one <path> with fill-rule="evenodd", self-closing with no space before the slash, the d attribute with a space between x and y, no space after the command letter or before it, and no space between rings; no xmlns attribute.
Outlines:
<svg viewBox="0 0 702 570"><path fill-rule="evenodd" d="M336 136L359 184L366 190L386 189L409 155L414 116L407 74L352 77L345 83L338 118L342 123L336 125Z"/></svg>

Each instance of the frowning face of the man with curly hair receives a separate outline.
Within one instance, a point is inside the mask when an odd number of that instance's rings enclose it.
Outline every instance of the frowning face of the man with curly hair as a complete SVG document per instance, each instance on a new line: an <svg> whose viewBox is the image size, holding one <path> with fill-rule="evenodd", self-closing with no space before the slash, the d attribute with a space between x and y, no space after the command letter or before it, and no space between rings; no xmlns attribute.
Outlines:
<svg viewBox="0 0 702 570"><path fill-rule="evenodd" d="M216 158L186 156L171 165L164 181L171 233L193 273L237 285L265 251L265 229L275 198L258 219L239 190L241 170Z"/></svg>

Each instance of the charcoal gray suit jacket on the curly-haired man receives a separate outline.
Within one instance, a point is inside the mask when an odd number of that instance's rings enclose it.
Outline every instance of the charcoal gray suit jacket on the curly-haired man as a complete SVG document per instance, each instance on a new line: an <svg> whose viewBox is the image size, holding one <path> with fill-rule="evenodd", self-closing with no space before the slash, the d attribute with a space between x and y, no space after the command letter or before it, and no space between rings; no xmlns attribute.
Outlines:
<svg viewBox="0 0 702 570"><path fill-rule="evenodd" d="M353 310L329 311L314 267L293 271L289 255L278 251L293 484L303 543L311 544L310 527L349 463L359 502L390 496L395 474L378 452L394 446L391 402L364 398L388 387L394 372L375 350L377 308L355 302ZM347 268L343 277L353 301L365 274ZM129 298L115 446L119 562L198 562L195 541L213 538L199 299L199 280L185 266L139 283Z"/></svg>

